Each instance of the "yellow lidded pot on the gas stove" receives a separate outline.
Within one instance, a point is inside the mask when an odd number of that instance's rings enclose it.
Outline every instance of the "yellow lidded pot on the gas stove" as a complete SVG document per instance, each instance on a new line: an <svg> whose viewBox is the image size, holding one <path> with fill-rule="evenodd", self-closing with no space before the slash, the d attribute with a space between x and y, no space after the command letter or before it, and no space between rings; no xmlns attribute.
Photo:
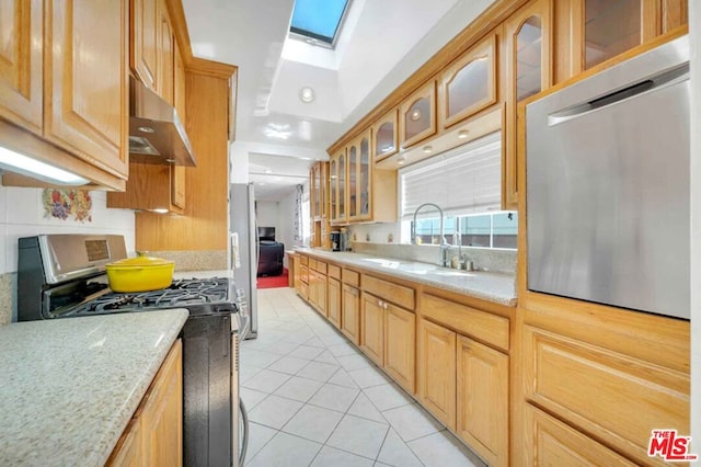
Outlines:
<svg viewBox="0 0 701 467"><path fill-rule="evenodd" d="M173 261L161 258L129 258L105 265L113 292L149 292L165 288L173 282Z"/></svg>

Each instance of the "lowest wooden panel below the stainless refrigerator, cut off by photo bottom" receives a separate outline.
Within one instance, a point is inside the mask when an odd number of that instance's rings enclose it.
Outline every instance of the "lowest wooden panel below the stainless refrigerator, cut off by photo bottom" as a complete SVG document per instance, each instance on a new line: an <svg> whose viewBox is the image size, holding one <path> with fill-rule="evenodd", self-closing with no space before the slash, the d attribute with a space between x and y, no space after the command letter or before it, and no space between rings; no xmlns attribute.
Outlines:
<svg viewBox="0 0 701 467"><path fill-rule="evenodd" d="M529 466L634 466L613 451L567 426L561 421L525 405L525 465Z"/></svg>

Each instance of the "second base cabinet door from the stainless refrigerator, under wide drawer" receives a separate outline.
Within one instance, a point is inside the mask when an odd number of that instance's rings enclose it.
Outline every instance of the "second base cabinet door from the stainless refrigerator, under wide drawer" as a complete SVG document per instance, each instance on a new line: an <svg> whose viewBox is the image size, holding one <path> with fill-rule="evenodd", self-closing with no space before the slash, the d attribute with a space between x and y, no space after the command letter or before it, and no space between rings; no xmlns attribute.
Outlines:
<svg viewBox="0 0 701 467"><path fill-rule="evenodd" d="M417 394L434 417L456 429L456 333L418 320Z"/></svg>

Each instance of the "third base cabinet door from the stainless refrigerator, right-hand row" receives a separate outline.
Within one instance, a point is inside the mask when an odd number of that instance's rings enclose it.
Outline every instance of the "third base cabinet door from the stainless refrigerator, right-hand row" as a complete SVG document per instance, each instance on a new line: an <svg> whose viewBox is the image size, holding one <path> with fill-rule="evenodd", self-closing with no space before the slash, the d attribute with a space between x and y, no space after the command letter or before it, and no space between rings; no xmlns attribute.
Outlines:
<svg viewBox="0 0 701 467"><path fill-rule="evenodd" d="M409 392L415 392L416 317L391 304L384 309L384 371Z"/></svg>

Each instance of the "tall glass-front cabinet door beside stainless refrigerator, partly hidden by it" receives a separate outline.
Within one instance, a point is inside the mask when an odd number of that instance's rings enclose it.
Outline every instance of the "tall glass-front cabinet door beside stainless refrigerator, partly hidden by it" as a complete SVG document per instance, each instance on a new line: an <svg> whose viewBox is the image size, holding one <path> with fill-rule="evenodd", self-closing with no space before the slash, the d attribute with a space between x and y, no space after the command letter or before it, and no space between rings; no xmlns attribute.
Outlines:
<svg viewBox="0 0 701 467"><path fill-rule="evenodd" d="M531 0L505 22L505 127L503 133L502 207L518 208L518 102L552 83L551 10L549 0Z"/></svg>

